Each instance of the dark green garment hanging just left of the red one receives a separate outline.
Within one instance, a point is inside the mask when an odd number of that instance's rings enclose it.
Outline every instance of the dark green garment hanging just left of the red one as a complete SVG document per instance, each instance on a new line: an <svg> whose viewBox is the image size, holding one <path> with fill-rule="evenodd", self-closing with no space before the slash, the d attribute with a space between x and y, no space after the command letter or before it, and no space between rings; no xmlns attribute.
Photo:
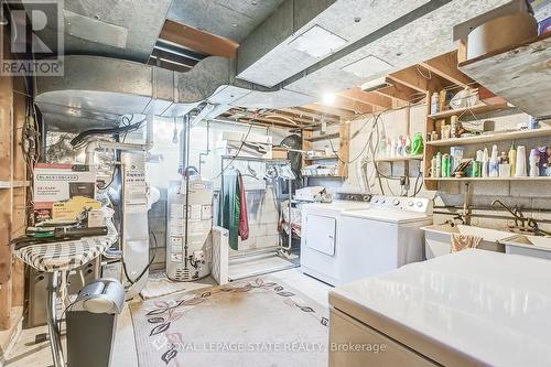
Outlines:
<svg viewBox="0 0 551 367"><path fill-rule="evenodd" d="M224 175L222 192L223 197L219 223L229 231L229 248L237 250L239 246L238 236L241 211L238 171L231 170Z"/></svg>

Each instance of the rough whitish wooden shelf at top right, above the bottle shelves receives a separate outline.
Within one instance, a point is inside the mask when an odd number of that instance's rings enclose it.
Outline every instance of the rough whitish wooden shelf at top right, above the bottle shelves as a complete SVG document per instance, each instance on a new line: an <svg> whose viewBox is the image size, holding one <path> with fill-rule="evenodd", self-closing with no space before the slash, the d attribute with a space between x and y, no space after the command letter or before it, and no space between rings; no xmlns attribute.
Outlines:
<svg viewBox="0 0 551 367"><path fill-rule="evenodd" d="M551 33L490 52L460 69L528 115L551 117Z"/></svg>

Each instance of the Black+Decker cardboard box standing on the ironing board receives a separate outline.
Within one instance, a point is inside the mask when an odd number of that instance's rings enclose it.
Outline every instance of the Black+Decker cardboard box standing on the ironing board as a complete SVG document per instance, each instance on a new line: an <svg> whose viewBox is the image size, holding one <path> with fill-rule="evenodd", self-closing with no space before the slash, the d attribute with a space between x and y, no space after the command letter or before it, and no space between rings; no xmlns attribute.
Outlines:
<svg viewBox="0 0 551 367"><path fill-rule="evenodd" d="M34 217L75 219L85 209L98 209L96 170L88 165L39 163L34 166Z"/></svg>

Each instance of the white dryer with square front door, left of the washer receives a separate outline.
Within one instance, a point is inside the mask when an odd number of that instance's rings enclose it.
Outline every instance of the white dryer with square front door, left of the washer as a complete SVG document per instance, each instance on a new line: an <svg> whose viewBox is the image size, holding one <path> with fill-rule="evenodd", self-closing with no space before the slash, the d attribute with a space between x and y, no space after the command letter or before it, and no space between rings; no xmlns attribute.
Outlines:
<svg viewBox="0 0 551 367"><path fill-rule="evenodd" d="M341 215L369 208L370 195L341 194L333 203L302 207L301 270L328 284L339 283Z"/></svg>

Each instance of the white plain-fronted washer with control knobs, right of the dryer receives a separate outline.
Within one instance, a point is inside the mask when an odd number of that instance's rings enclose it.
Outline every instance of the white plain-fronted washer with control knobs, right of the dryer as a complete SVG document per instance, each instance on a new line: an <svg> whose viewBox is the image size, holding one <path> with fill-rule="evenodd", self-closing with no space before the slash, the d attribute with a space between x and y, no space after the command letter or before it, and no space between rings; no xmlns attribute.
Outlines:
<svg viewBox="0 0 551 367"><path fill-rule="evenodd" d="M431 224L428 198L374 196L369 209L343 212L338 284L422 261Z"/></svg>

